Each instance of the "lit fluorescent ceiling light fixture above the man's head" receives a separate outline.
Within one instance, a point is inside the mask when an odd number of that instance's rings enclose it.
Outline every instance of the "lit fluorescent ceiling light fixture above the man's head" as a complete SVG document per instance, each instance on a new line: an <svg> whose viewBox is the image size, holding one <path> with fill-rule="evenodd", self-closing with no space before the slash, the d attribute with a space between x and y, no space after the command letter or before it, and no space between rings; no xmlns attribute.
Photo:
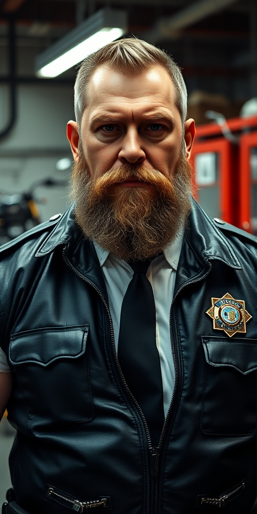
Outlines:
<svg viewBox="0 0 257 514"><path fill-rule="evenodd" d="M105 8L90 16L36 58L38 77L57 77L127 31L126 12Z"/></svg>

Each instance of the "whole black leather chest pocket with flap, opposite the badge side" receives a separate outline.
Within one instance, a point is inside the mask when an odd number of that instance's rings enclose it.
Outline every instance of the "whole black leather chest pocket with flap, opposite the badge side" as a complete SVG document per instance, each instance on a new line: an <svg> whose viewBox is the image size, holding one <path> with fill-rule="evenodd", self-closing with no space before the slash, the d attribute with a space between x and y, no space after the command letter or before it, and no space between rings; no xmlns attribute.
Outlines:
<svg viewBox="0 0 257 514"><path fill-rule="evenodd" d="M13 334L9 361L28 408L28 426L90 421L94 417L86 351L88 325Z"/></svg>

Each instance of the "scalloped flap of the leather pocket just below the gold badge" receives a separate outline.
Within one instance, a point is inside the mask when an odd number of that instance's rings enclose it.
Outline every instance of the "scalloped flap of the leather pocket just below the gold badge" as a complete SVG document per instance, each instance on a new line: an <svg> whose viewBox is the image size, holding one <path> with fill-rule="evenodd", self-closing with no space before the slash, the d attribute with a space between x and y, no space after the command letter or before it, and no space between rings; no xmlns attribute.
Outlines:
<svg viewBox="0 0 257 514"><path fill-rule="evenodd" d="M257 339L202 337L205 357L211 366L230 366L243 375L257 370Z"/></svg>

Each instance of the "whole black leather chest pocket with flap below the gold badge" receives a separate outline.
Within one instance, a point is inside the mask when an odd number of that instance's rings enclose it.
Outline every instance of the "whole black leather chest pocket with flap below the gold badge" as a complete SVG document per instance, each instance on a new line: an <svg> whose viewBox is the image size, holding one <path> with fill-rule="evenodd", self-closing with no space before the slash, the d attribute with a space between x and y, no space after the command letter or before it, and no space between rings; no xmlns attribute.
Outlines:
<svg viewBox="0 0 257 514"><path fill-rule="evenodd" d="M257 420L257 339L202 337L206 365L200 428L251 435Z"/></svg>

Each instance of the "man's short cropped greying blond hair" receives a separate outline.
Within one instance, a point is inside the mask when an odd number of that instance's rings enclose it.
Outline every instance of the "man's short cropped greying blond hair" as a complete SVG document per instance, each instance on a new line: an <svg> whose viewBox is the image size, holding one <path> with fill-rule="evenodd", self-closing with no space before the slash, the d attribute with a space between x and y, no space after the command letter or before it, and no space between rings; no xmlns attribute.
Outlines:
<svg viewBox="0 0 257 514"><path fill-rule="evenodd" d="M88 82L96 69L104 64L124 75L140 74L155 65L166 69L175 86L175 101L183 127L187 115L187 88L180 68L166 52L136 38L125 38L109 43L91 53L82 62L74 87L75 116L79 127L87 104Z"/></svg>

